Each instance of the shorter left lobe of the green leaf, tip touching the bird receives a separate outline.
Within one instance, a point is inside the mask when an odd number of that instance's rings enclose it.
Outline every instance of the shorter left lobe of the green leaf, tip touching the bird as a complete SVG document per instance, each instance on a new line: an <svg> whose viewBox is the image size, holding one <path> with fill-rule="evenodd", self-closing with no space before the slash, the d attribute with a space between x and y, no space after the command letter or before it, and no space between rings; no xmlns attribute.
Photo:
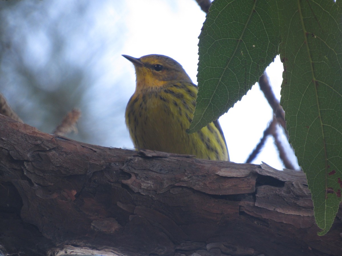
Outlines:
<svg viewBox="0 0 342 256"><path fill-rule="evenodd" d="M213 2L199 36L199 91L190 133L247 93L277 55L279 42L275 2Z"/></svg>

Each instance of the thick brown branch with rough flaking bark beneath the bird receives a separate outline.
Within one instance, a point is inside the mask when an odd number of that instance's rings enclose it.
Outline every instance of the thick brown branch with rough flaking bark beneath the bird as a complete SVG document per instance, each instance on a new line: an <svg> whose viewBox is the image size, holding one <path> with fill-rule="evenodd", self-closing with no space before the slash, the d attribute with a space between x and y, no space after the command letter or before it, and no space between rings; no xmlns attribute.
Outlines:
<svg viewBox="0 0 342 256"><path fill-rule="evenodd" d="M341 208L317 236L302 172L0 126L5 255L342 255Z"/></svg>

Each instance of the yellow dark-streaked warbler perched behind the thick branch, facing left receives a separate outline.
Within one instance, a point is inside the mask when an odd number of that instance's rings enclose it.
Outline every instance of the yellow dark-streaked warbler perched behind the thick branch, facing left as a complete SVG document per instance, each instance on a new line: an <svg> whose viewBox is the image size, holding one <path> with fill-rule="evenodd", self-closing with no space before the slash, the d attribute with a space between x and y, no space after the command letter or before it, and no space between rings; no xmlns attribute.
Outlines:
<svg viewBox="0 0 342 256"><path fill-rule="evenodd" d="M133 63L136 73L135 92L126 108L126 125L135 147L229 160L218 120L186 133L198 89L177 61L156 54L122 56Z"/></svg>

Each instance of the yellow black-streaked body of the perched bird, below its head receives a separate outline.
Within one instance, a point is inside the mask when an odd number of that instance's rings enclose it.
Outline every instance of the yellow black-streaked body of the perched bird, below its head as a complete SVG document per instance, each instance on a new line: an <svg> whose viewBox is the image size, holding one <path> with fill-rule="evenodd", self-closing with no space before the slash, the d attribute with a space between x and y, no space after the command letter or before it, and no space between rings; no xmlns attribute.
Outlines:
<svg viewBox="0 0 342 256"><path fill-rule="evenodd" d="M188 134L195 110L197 86L169 82L136 90L126 108L126 125L137 148L197 158L228 160L221 128L216 122Z"/></svg>

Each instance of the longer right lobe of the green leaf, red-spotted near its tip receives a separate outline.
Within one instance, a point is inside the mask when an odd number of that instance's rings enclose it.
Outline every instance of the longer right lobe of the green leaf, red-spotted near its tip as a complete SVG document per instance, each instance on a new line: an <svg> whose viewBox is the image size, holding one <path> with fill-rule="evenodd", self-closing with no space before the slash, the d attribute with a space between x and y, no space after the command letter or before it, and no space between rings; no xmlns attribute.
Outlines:
<svg viewBox="0 0 342 256"><path fill-rule="evenodd" d="M340 1L279 1L281 104L290 143L306 173L319 234L329 231L342 189Z"/></svg>

